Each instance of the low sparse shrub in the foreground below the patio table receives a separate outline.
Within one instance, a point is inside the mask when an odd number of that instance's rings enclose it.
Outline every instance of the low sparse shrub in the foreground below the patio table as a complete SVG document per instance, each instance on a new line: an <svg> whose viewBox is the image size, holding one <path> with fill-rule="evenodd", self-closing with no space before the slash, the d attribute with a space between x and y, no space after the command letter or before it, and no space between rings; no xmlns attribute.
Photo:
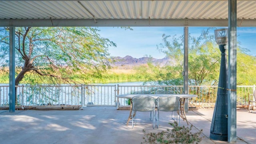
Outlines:
<svg viewBox="0 0 256 144"><path fill-rule="evenodd" d="M192 133L192 125L190 127L178 126L178 122L169 123L173 128L161 131L158 133L146 133L146 130L142 130L144 133L144 142L141 144L198 144L202 140L199 132Z"/></svg>

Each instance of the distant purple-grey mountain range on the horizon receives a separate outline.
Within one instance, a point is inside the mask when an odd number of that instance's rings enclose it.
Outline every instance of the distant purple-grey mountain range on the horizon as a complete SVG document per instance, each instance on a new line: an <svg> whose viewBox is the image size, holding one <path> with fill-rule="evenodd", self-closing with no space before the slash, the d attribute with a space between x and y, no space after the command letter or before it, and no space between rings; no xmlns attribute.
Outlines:
<svg viewBox="0 0 256 144"><path fill-rule="evenodd" d="M125 57L113 57L114 64L113 67L133 67L139 65L146 65L148 62L152 62L153 65L160 65L164 66L166 64L171 64L173 61L168 57L164 57L162 59L156 59L152 57L141 57L141 58L134 58L130 55L126 55Z"/></svg>

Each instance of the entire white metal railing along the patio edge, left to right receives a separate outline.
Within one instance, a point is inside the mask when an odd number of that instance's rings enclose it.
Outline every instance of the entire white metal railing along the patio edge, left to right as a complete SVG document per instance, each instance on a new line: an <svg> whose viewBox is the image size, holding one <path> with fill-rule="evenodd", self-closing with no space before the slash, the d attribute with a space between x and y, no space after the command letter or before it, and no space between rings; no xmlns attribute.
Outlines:
<svg viewBox="0 0 256 144"><path fill-rule="evenodd" d="M214 106L217 86L189 86L189 94L198 95L190 99L190 106ZM237 106L248 106L253 86L237 86ZM130 94L135 91L150 93L182 94L183 86L146 86L146 85L37 85L16 86L16 105L81 105L116 106L116 95ZM0 106L9 105L9 86L0 86ZM128 105L127 99L119 99L118 105Z"/></svg>

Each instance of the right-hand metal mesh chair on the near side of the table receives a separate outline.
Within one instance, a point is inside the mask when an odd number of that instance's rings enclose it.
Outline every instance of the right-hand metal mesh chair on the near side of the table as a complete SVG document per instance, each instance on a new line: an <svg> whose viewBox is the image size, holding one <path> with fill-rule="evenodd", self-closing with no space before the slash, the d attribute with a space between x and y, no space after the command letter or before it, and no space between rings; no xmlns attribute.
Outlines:
<svg viewBox="0 0 256 144"><path fill-rule="evenodd" d="M180 115L178 114L178 110L180 108L180 98L175 96L162 96L158 97L157 99L158 106L157 106L157 127L159 126L159 111L166 111L166 112L174 112L173 120L178 121L179 116L179 125L180 125Z"/></svg>

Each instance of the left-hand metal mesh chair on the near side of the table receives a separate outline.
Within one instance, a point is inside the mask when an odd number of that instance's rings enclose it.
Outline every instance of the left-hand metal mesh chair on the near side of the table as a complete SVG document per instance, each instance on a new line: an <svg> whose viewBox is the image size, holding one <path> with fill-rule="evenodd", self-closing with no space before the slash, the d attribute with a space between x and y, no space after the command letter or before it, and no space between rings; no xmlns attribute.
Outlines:
<svg viewBox="0 0 256 144"><path fill-rule="evenodd" d="M132 128L137 122L136 112L151 112L153 111L153 128L155 128L155 99L150 96L135 96L132 98ZM150 116L150 120L152 120ZM133 122L135 121L135 124Z"/></svg>

